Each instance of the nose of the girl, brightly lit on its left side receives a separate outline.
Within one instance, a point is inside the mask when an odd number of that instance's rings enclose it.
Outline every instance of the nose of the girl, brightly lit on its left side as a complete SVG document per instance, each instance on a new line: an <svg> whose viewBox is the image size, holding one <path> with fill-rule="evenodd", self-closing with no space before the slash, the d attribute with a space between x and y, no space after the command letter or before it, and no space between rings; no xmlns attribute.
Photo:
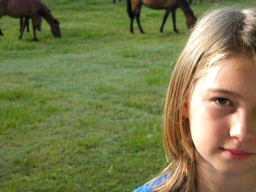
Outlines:
<svg viewBox="0 0 256 192"><path fill-rule="evenodd" d="M248 114L238 114L230 127L230 137L237 138L239 142L256 139L256 119Z"/></svg>

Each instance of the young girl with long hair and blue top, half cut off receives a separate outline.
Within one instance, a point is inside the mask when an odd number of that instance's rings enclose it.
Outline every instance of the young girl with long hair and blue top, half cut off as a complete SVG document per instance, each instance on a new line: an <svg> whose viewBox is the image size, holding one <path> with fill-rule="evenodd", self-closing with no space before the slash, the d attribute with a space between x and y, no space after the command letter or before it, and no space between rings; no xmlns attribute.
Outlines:
<svg viewBox="0 0 256 192"><path fill-rule="evenodd" d="M170 165L136 192L256 191L256 9L222 8L195 26L164 113Z"/></svg>

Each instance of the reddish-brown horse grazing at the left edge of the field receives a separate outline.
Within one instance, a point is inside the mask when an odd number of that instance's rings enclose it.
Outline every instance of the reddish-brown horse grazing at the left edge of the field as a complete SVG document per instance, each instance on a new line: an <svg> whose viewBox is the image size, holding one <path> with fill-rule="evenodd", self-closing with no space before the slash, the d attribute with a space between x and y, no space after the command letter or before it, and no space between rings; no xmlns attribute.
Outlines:
<svg viewBox="0 0 256 192"><path fill-rule="evenodd" d="M44 18L50 25L50 30L54 37L61 38L61 30L59 22L55 19L50 10L42 3L41 0L0 0L0 18L3 15L8 15L13 18L31 18L34 32L34 41L38 41L36 36L37 18L38 16ZM24 30L26 22L22 23L22 30ZM2 34L2 30L0 30ZM19 36L22 38L22 34Z"/></svg>

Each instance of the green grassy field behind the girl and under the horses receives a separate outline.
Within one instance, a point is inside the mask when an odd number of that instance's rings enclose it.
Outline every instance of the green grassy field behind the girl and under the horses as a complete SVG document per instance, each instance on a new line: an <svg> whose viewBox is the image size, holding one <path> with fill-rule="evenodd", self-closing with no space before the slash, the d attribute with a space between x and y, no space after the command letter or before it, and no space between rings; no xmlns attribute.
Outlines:
<svg viewBox="0 0 256 192"><path fill-rule="evenodd" d="M186 42L178 10L159 33L163 10L142 9L146 34L130 34L126 2L45 0L61 22L18 39L18 19L0 26L0 191L131 191L166 164L162 109ZM256 6L254 0L204 1Z"/></svg>

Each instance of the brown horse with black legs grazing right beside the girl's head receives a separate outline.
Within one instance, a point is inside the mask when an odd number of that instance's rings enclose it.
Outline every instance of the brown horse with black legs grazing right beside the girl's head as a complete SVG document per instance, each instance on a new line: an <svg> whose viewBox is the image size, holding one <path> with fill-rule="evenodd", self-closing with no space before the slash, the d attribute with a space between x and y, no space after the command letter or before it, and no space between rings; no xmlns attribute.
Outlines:
<svg viewBox="0 0 256 192"><path fill-rule="evenodd" d="M176 28L176 15L175 11L178 8L184 12L186 16L186 26L190 29L194 26L196 22L196 17L193 14L193 11L190 9L190 6L186 0L126 0L127 3L127 13L130 17L130 32L134 33L134 18L138 23L138 28L142 34L144 34L144 30L142 30L142 26L140 24L140 14L142 5L145 5L151 9L155 10L166 10L166 14L162 19L162 26L160 31L162 32L164 25L166 24L166 19L170 12L172 12L173 22L174 22L174 31L178 32ZM132 8L133 6L133 8Z"/></svg>

